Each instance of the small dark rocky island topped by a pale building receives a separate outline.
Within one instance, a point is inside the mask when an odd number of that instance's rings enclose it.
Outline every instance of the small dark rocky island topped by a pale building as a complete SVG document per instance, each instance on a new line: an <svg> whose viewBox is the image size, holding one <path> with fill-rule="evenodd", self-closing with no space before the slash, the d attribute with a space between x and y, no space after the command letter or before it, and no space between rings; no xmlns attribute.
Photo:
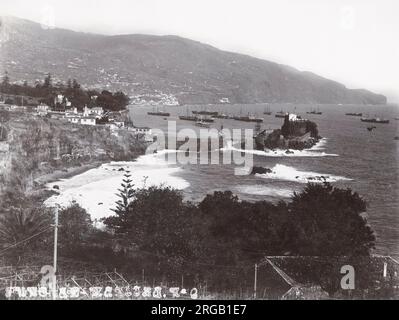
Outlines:
<svg viewBox="0 0 399 320"><path fill-rule="evenodd" d="M287 113L281 129L263 130L255 136L255 147L257 150L303 150L313 147L320 139L315 122Z"/></svg>

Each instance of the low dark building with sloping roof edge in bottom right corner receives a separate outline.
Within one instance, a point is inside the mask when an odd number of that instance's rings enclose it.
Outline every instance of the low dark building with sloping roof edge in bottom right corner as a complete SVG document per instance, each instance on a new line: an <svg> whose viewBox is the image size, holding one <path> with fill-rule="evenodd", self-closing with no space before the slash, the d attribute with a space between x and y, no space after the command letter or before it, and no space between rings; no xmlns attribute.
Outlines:
<svg viewBox="0 0 399 320"><path fill-rule="evenodd" d="M343 266L353 267L353 289L341 285ZM257 281L260 299L397 299L399 263L380 255L269 256L257 264Z"/></svg>

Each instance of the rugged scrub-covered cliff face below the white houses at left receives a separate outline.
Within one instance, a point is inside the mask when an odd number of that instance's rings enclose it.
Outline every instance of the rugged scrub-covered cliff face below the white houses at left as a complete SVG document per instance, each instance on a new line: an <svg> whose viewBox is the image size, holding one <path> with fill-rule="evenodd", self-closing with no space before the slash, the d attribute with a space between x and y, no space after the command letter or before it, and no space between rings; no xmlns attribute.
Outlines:
<svg viewBox="0 0 399 320"><path fill-rule="evenodd" d="M81 126L59 120L18 115L1 126L0 192L6 188L29 190L43 175L55 170L108 161L133 160L146 143L128 131L118 136L102 126Z"/></svg>

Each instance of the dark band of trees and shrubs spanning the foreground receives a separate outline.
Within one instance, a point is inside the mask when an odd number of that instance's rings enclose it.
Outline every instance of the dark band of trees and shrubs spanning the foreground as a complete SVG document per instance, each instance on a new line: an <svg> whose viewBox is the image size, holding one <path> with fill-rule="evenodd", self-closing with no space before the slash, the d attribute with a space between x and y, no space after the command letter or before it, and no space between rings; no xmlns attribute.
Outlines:
<svg viewBox="0 0 399 320"><path fill-rule="evenodd" d="M77 204L60 211L60 269L114 270L127 277L206 284L209 291L248 288L253 265L265 256L368 258L375 236L362 213L365 201L350 189L308 184L290 202L241 201L230 191L184 201L166 186L133 189L126 173L115 214L93 227ZM19 200L23 199L23 201ZM3 265L51 263L52 212L34 199L8 194L0 207ZM29 239L38 231L42 234ZM330 277L319 270L316 278ZM329 278L328 278L329 279ZM331 281L324 279L334 294ZM335 287L334 287L335 288Z"/></svg>

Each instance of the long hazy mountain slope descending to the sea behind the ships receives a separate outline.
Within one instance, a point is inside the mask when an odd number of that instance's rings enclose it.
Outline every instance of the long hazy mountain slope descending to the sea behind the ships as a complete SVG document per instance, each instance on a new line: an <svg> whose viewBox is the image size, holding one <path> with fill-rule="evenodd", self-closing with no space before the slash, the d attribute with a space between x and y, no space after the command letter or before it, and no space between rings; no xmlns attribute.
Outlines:
<svg viewBox="0 0 399 320"><path fill-rule="evenodd" d="M136 101L386 103L367 90L177 36L104 36L13 17L1 18L0 73L5 70L12 81L51 73L87 87L121 89Z"/></svg>

